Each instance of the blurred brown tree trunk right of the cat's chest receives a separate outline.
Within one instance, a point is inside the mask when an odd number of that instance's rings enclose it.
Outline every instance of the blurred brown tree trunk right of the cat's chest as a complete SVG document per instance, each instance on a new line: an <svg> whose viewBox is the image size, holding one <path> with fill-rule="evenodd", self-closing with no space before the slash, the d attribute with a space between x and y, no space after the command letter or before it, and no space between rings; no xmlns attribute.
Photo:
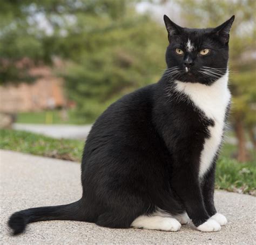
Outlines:
<svg viewBox="0 0 256 245"><path fill-rule="evenodd" d="M241 119L235 120L235 134L238 139L238 155L237 160L240 162L245 162L247 160L246 151L246 139L245 139L245 129Z"/></svg>

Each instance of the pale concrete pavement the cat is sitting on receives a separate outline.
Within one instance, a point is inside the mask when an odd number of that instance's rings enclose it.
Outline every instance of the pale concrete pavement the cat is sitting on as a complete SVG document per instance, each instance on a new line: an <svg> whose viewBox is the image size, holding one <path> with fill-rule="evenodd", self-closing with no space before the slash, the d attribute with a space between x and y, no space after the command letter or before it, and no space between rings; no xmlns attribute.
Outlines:
<svg viewBox="0 0 256 245"><path fill-rule="evenodd" d="M1 154L1 244L256 244L255 198L218 191L218 210L228 223L217 233L202 233L192 224L179 232L109 229L77 221L29 224L26 233L10 236L8 216L19 209L76 201L82 192L80 165L10 151Z"/></svg>

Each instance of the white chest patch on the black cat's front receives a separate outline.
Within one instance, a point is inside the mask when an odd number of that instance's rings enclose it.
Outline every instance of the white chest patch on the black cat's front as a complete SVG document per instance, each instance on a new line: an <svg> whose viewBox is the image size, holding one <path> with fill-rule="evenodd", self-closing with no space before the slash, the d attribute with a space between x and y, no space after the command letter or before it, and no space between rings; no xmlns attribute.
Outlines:
<svg viewBox="0 0 256 245"><path fill-rule="evenodd" d="M204 148L200 155L199 177L204 176L211 167L212 160L221 143L226 108L231 99L227 83L228 71L211 86L199 83L184 83L176 80L176 89L186 94L207 118L214 121L214 126L208 127L210 138L205 139Z"/></svg>

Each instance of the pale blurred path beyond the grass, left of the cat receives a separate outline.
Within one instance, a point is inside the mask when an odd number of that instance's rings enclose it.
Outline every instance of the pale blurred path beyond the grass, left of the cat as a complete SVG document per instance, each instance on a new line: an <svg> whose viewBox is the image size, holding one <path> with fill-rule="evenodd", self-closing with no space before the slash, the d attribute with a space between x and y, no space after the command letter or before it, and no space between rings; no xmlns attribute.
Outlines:
<svg viewBox="0 0 256 245"><path fill-rule="evenodd" d="M85 140L92 125L61 125L61 124L14 124L15 130L39 133L52 138L83 139Z"/></svg>

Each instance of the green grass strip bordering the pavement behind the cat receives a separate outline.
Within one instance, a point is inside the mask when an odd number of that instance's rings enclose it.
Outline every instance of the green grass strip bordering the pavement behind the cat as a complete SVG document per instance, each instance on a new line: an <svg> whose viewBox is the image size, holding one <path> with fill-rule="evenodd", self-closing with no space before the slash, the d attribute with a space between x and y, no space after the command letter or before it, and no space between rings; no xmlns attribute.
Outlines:
<svg viewBox="0 0 256 245"><path fill-rule="evenodd" d="M0 130L1 149L80 161L84 142L82 140L53 139L40 134L14 130ZM226 144L217 164L215 187L232 192L256 195L255 161L242 164L230 156L235 146Z"/></svg>

